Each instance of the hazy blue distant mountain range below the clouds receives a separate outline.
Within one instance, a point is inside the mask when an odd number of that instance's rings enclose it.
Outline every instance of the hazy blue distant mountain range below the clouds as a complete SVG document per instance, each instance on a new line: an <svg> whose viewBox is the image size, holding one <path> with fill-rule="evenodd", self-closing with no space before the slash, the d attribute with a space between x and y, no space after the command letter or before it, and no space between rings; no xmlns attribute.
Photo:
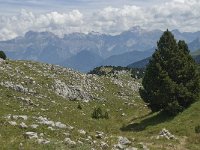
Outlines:
<svg viewBox="0 0 200 150"><path fill-rule="evenodd" d="M173 30L192 51L200 48L200 31ZM163 31L133 27L119 35L96 32L72 33L58 37L50 32L27 32L23 37L0 41L9 58L34 60L89 71L100 65L127 66L151 56Z"/></svg>

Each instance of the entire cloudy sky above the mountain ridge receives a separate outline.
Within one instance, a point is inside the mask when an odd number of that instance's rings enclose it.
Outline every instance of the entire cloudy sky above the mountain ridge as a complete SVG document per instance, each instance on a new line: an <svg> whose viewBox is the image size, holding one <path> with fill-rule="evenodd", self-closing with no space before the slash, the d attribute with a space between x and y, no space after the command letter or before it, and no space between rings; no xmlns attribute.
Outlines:
<svg viewBox="0 0 200 150"><path fill-rule="evenodd" d="M0 0L0 40L27 31L119 34L134 26L199 31L200 0Z"/></svg>

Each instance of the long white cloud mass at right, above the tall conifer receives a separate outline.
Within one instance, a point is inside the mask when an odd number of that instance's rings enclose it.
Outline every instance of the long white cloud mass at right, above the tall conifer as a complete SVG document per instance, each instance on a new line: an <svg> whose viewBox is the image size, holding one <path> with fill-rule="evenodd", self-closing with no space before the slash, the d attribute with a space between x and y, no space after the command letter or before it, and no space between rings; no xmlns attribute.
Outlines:
<svg viewBox="0 0 200 150"><path fill-rule="evenodd" d="M116 33L132 26L146 29L200 30L200 1L171 0L150 7L107 7L93 16L100 31Z"/></svg>

